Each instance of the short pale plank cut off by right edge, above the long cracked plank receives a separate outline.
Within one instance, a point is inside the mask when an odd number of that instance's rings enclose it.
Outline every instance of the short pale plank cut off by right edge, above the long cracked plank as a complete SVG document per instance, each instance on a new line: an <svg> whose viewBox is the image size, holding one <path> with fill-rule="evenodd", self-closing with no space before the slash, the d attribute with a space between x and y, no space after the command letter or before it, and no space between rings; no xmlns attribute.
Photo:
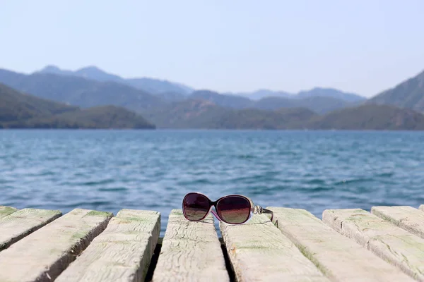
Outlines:
<svg viewBox="0 0 424 282"><path fill-rule="evenodd" d="M371 213L424 238L424 213L419 209L408 206L372 207Z"/></svg>

